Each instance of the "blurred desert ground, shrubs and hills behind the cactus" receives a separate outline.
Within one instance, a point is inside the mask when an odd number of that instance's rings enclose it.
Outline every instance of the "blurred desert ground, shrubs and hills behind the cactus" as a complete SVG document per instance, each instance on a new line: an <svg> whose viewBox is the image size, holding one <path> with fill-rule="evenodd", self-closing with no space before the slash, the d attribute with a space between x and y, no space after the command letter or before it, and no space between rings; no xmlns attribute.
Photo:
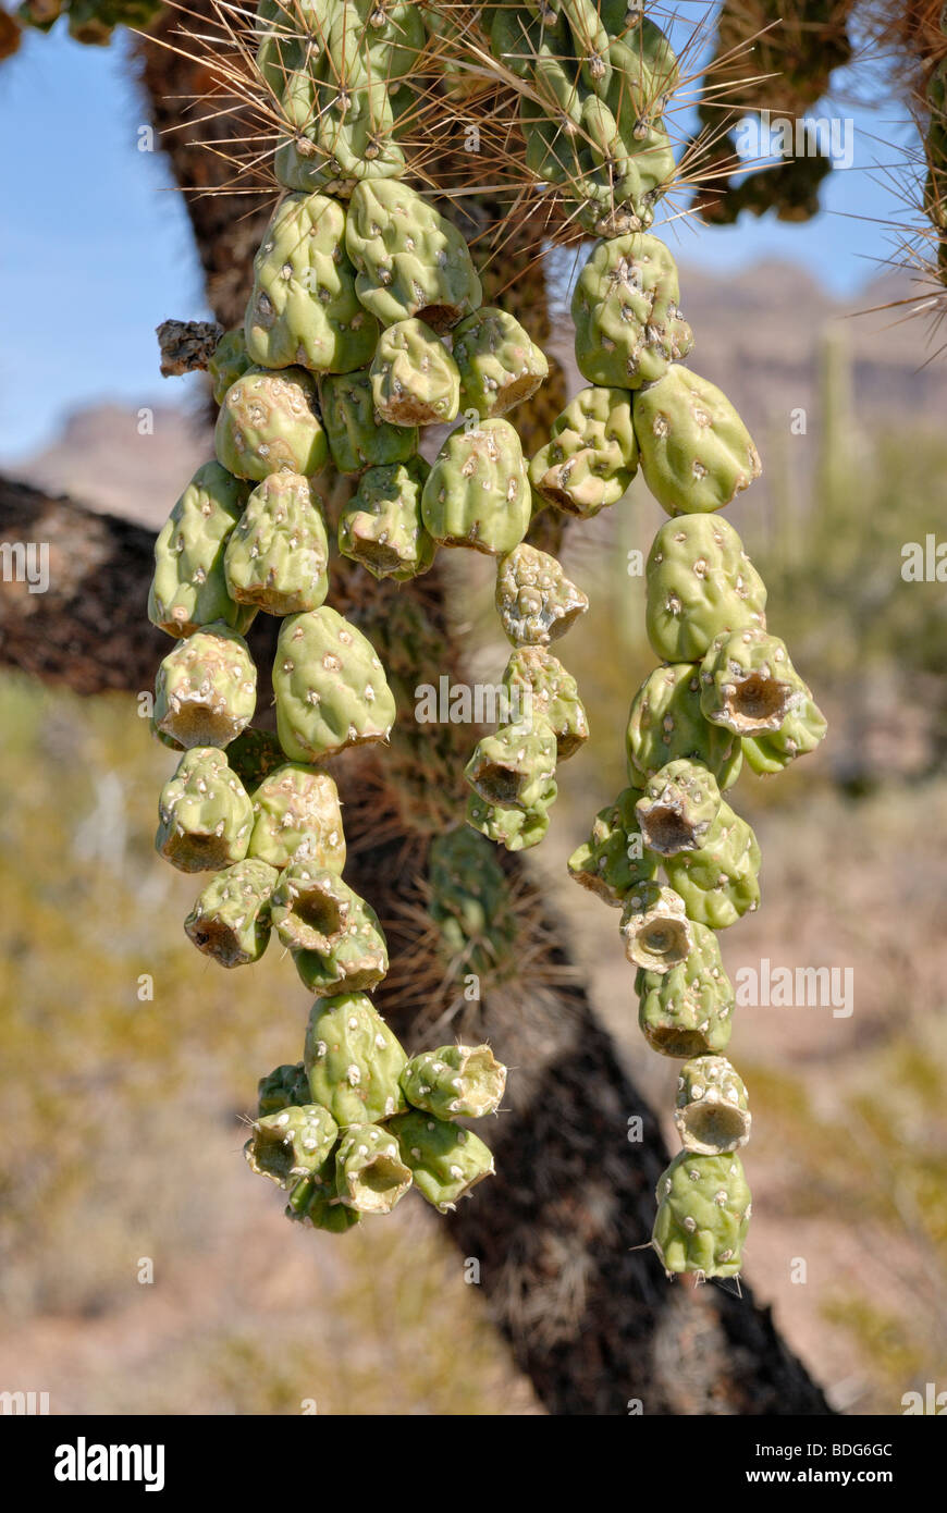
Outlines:
<svg viewBox="0 0 947 1513"><path fill-rule="evenodd" d="M762 958L852 968L855 988L850 1017L738 1011L746 1275L835 1409L900 1413L905 1392L947 1389L947 584L900 573L903 543L947 539L947 366L923 321L852 318L909 292L894 277L840 304L799 266L722 278L687 247L681 262L694 363L764 457L731 517L831 719L815 756L735 791L762 906L725 934L725 961L731 977ZM97 405L15 472L157 530L210 451L175 392L154 434L135 409ZM561 655L593 738L529 856L598 1012L667 1111L676 1064L638 1036L617 912L564 875L625 784L626 708L654 664L626 563L661 519L635 483L569 534L591 611ZM495 678L505 651L470 555L460 613L472 670ZM151 844L174 756L135 702L3 673L0 732L0 1389L45 1390L54 1413L542 1412L419 1201L337 1239L287 1226L248 1176L256 1079L295 1061L307 996L275 949L222 973L186 940L194 881Z"/></svg>

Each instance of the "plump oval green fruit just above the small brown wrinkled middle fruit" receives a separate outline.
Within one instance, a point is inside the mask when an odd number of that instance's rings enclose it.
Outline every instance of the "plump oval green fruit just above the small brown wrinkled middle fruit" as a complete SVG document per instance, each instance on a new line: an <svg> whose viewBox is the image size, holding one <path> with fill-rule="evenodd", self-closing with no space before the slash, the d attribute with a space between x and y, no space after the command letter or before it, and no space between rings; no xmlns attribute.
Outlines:
<svg viewBox="0 0 947 1513"><path fill-rule="evenodd" d="M424 486L421 511L436 542L504 557L529 528L529 477L508 421L448 436Z"/></svg>

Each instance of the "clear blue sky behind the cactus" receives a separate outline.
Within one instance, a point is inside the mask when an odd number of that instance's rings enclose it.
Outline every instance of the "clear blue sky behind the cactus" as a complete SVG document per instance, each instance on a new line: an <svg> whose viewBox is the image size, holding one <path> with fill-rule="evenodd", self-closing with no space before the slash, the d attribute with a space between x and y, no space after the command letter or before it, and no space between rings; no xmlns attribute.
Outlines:
<svg viewBox="0 0 947 1513"><path fill-rule="evenodd" d="M826 213L802 227L772 216L699 235L685 225L682 260L738 274L759 257L790 259L835 294L855 295L890 256L880 222L897 213L874 165L897 165L888 144L909 138L883 98L852 113L855 165L831 176ZM138 150L142 123L124 39L80 47L56 27L27 36L0 67L6 464L45 445L82 404L180 402L194 383L157 374L159 321L207 312L180 195L160 154Z"/></svg>

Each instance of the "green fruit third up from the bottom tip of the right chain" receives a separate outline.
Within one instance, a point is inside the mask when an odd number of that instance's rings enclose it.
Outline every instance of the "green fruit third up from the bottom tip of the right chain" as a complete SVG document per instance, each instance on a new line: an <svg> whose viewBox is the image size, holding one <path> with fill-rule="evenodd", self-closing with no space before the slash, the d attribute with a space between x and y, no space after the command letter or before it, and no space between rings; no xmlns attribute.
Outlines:
<svg viewBox="0 0 947 1513"><path fill-rule="evenodd" d="M734 990L716 934L691 923L687 958L667 971L640 968L638 1029L663 1056L719 1055L734 1029Z"/></svg>

